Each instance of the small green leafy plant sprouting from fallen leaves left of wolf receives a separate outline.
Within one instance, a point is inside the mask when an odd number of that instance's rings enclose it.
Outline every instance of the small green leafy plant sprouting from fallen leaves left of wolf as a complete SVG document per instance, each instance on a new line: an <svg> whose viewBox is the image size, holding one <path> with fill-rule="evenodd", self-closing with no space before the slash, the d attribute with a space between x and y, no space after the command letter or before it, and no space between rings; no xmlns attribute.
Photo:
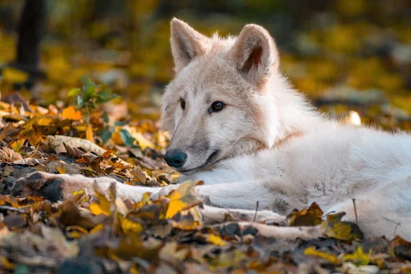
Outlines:
<svg viewBox="0 0 411 274"><path fill-rule="evenodd" d="M91 114L96 105L107 103L119 95L112 94L111 88L95 84L88 77L82 77L82 83L82 88L73 88L69 91L69 97L75 97L74 105L82 110L84 121L90 125Z"/></svg>

